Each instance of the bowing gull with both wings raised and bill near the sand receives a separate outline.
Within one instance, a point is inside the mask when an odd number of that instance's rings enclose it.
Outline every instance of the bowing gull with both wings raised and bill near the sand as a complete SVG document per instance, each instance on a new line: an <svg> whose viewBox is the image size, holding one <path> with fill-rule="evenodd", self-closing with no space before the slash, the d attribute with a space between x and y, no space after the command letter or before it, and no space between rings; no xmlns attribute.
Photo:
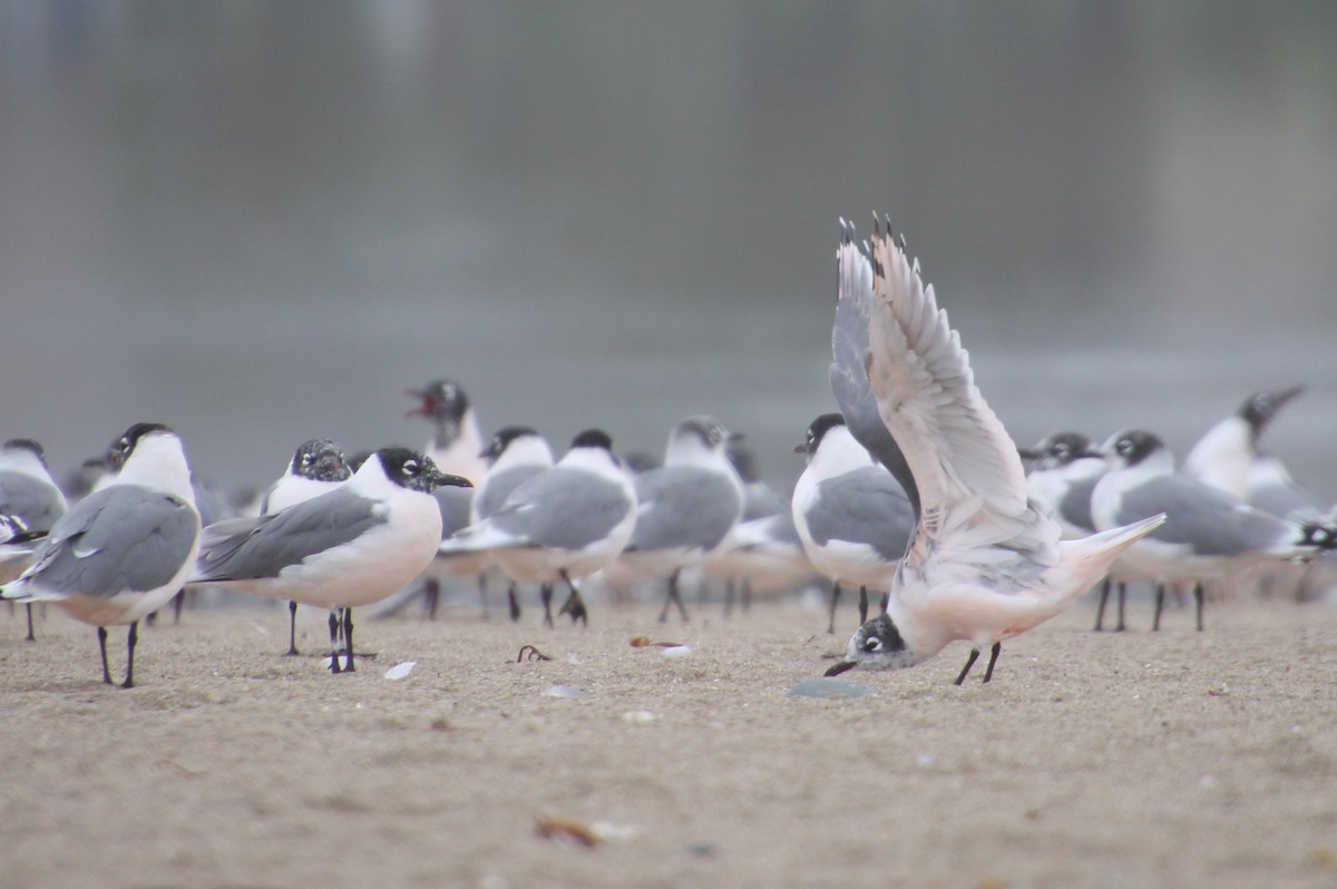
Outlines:
<svg viewBox="0 0 1337 889"><path fill-rule="evenodd" d="M919 524L886 611L854 632L826 675L910 667L961 639L971 655L956 684L985 646L988 682L1004 639L1059 614L1165 516L1062 540L1027 499L1016 445L904 239L878 226L860 246L844 226L837 257L832 390L850 432L901 481Z"/></svg>

